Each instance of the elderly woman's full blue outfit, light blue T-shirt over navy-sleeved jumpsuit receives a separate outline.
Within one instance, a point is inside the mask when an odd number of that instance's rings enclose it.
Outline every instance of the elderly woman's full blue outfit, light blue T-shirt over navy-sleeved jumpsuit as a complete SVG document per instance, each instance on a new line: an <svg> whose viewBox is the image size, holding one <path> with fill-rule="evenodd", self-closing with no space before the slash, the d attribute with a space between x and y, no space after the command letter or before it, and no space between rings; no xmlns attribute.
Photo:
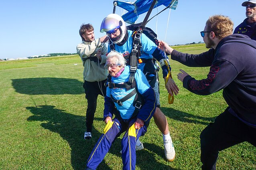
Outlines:
<svg viewBox="0 0 256 170"><path fill-rule="evenodd" d="M126 66L122 74L115 78L112 77L112 83L123 84L128 82L130 76L130 66ZM120 100L132 90L126 90L125 88L108 88L107 95L104 103L104 120L107 116L112 118L114 112L119 112L121 118L116 116L111 121L108 121L103 134L100 136L98 142L95 144L88 160L87 160L87 169L95 170L97 166L102 162L105 155L110 149L112 143L125 132L124 137L122 138L122 162L123 170L135 170L136 164L136 151L135 144L136 140L143 136L147 130L149 120L152 118L155 109L156 109L156 97L154 90L148 84L145 75L142 71L137 70L134 79L136 81L136 88L138 92L142 95L144 99L143 106L138 110L138 114L133 116L135 107L133 106L134 96L130 99L124 101L122 106L119 106L117 103L112 102L110 94L115 100ZM140 118L144 121L144 126L135 129L134 122L137 118Z"/></svg>

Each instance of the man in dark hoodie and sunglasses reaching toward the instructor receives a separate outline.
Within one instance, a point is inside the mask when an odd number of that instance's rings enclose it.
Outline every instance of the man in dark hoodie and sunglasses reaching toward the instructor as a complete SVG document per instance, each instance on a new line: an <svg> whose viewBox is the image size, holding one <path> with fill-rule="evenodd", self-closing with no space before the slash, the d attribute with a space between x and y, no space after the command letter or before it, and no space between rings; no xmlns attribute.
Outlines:
<svg viewBox="0 0 256 170"><path fill-rule="evenodd" d="M187 90L208 95L223 89L228 108L200 135L203 170L215 170L219 151L241 142L256 146L256 41L232 34L226 16L211 16L201 36L209 51L184 54L159 41L158 48L186 66L210 66L206 79L195 80L185 71L177 75Z"/></svg>

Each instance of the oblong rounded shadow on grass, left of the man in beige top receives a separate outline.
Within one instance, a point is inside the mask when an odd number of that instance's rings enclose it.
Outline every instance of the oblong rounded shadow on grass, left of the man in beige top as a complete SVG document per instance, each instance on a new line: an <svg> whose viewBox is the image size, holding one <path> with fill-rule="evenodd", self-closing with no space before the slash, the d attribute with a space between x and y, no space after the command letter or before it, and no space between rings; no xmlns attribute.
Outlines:
<svg viewBox="0 0 256 170"><path fill-rule="evenodd" d="M21 94L82 94L81 82L71 78L20 78L12 79L12 86Z"/></svg>

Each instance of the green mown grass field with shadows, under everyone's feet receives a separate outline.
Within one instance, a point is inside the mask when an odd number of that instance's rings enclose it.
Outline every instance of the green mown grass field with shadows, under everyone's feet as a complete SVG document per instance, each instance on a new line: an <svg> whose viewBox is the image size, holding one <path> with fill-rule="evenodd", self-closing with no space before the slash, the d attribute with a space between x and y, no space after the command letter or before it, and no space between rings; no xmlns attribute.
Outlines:
<svg viewBox="0 0 256 170"><path fill-rule="evenodd" d="M207 50L204 44L174 48L192 54ZM152 120L148 132L140 138L145 149L137 152L138 170L200 169L200 132L227 107L222 91L198 96L183 88L176 76L183 69L198 80L206 78L209 68L189 68L170 62L180 93L174 104L168 104L161 78L160 97L176 159L165 160L162 135ZM0 62L0 169L85 169L105 123L102 121L104 98L100 96L93 138L83 139L87 102L81 85L82 72L78 55ZM121 138L118 138L98 169L122 169L120 149ZM221 151L217 169L256 169L256 148L244 142Z"/></svg>

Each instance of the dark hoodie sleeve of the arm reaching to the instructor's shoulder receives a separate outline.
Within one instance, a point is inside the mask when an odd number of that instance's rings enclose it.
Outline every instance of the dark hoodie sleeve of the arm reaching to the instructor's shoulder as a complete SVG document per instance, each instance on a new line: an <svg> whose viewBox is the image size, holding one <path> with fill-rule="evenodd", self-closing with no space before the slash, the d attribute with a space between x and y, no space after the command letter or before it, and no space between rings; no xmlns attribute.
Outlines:
<svg viewBox="0 0 256 170"><path fill-rule="evenodd" d="M207 52L201 54L186 54L173 50L171 59L180 62L189 67L207 67L213 62L215 50L211 48Z"/></svg>

